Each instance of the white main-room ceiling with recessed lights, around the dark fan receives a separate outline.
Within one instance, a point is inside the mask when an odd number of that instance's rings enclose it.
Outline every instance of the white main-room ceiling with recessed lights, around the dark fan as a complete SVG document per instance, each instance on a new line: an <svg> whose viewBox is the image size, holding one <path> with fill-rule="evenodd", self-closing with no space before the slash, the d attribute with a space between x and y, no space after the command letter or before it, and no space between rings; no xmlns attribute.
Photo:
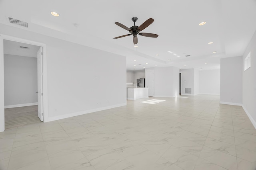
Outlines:
<svg viewBox="0 0 256 170"><path fill-rule="evenodd" d="M131 27L134 16L137 26L153 18L142 32L158 38L138 36L138 48L132 36L113 39L128 34L114 22ZM0 0L0 23L16 27L7 17L28 22L22 29L126 56L127 70L155 65L206 70L220 68L220 58L243 55L256 30L256 0ZM202 21L207 23L198 25Z"/></svg>

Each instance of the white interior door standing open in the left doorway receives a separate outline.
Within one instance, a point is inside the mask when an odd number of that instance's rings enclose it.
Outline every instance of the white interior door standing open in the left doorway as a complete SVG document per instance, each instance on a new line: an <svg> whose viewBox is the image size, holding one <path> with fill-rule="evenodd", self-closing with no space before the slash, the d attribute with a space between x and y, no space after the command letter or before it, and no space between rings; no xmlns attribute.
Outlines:
<svg viewBox="0 0 256 170"><path fill-rule="evenodd" d="M43 115L43 70L42 70L42 47L37 52L37 102L38 102L38 117L41 121L44 121Z"/></svg>

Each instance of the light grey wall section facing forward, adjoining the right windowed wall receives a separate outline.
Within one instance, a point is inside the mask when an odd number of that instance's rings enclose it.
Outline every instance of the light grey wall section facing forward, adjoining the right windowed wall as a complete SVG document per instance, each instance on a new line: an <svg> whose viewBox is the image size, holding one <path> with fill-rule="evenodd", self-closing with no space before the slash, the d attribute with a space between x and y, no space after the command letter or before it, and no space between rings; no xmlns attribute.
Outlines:
<svg viewBox="0 0 256 170"><path fill-rule="evenodd" d="M242 105L242 57L220 59L220 103Z"/></svg>

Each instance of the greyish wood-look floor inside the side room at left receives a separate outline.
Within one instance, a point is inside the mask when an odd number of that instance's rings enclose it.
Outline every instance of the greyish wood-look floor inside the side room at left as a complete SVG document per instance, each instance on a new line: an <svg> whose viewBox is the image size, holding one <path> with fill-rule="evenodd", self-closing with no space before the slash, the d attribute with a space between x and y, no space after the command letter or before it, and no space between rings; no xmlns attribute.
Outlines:
<svg viewBox="0 0 256 170"><path fill-rule="evenodd" d="M5 129L40 123L37 105L4 109Z"/></svg>

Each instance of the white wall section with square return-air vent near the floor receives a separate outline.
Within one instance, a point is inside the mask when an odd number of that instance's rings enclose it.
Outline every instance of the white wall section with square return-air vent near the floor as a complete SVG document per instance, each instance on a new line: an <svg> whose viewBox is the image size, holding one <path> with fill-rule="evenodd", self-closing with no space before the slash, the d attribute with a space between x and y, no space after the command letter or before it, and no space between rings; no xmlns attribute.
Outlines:
<svg viewBox="0 0 256 170"><path fill-rule="evenodd" d="M194 95L194 68L180 70L181 72L181 94ZM191 94L185 94L185 88L191 88Z"/></svg>

